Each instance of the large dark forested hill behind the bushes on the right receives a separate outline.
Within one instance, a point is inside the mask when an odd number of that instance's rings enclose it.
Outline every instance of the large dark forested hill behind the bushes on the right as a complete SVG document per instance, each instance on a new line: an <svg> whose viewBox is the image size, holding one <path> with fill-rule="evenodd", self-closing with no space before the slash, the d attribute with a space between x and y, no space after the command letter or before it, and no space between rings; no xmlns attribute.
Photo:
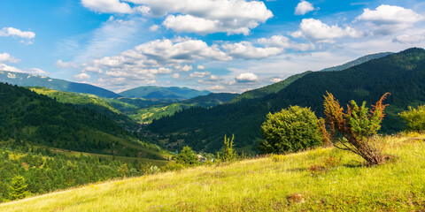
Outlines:
<svg viewBox="0 0 425 212"><path fill-rule="evenodd" d="M224 134L235 133L236 148L254 151L261 138L259 126L269 111L299 105L322 116L326 91L342 105L353 99L367 101L369 106L390 92L381 132L401 130L404 124L397 113L425 102L425 50L406 49L339 72L312 72L276 94L211 109L183 110L152 122L150 128L157 133L180 133L185 144L210 152L220 149Z"/></svg>

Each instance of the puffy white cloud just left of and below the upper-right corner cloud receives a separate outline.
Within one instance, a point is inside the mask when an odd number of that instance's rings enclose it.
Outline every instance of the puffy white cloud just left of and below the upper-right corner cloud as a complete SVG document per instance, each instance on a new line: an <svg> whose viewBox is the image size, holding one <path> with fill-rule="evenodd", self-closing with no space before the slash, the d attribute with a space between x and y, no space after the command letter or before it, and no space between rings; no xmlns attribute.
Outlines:
<svg viewBox="0 0 425 212"><path fill-rule="evenodd" d="M319 19L303 19L299 24L297 32L291 34L293 37L305 37L312 42L335 42L334 39L342 37L359 38L363 32L359 32L352 27L328 26Z"/></svg>

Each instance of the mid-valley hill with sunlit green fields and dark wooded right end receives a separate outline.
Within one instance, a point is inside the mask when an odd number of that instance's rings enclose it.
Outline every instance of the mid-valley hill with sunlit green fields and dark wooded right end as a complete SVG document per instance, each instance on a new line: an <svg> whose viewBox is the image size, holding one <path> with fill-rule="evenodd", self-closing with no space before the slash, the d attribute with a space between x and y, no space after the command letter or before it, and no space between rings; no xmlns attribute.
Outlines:
<svg viewBox="0 0 425 212"><path fill-rule="evenodd" d="M173 116L175 112L193 108L209 108L224 102L233 100L237 94L220 93L209 95L201 95L195 98L174 103L160 103L150 107L128 112L128 116L132 117L140 123L151 122L160 117Z"/></svg>

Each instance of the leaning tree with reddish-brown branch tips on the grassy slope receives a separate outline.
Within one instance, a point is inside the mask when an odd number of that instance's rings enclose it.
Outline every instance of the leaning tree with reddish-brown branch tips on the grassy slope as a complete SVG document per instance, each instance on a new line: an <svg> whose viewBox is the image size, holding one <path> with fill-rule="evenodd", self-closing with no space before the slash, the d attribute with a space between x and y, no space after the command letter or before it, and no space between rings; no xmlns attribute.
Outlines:
<svg viewBox="0 0 425 212"><path fill-rule="evenodd" d="M375 134L381 128L385 116L383 110L387 105L383 104L383 100L390 94L384 94L375 105L372 105L372 110L366 107L366 102L359 107L352 100L347 105L346 113L334 95L328 92L327 94L323 105L334 146L360 155L369 165L384 163L384 157L376 145ZM341 133L344 138L341 139L337 133Z"/></svg>

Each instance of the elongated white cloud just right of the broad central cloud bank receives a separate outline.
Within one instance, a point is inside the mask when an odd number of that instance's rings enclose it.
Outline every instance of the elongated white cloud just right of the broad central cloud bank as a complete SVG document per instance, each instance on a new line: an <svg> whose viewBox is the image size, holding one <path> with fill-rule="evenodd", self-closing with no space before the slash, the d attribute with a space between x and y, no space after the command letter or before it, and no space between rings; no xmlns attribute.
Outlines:
<svg viewBox="0 0 425 212"><path fill-rule="evenodd" d="M222 45L222 48L228 52L228 55L243 59L262 59L282 52L282 49L275 47L254 47L251 42L226 43Z"/></svg>

